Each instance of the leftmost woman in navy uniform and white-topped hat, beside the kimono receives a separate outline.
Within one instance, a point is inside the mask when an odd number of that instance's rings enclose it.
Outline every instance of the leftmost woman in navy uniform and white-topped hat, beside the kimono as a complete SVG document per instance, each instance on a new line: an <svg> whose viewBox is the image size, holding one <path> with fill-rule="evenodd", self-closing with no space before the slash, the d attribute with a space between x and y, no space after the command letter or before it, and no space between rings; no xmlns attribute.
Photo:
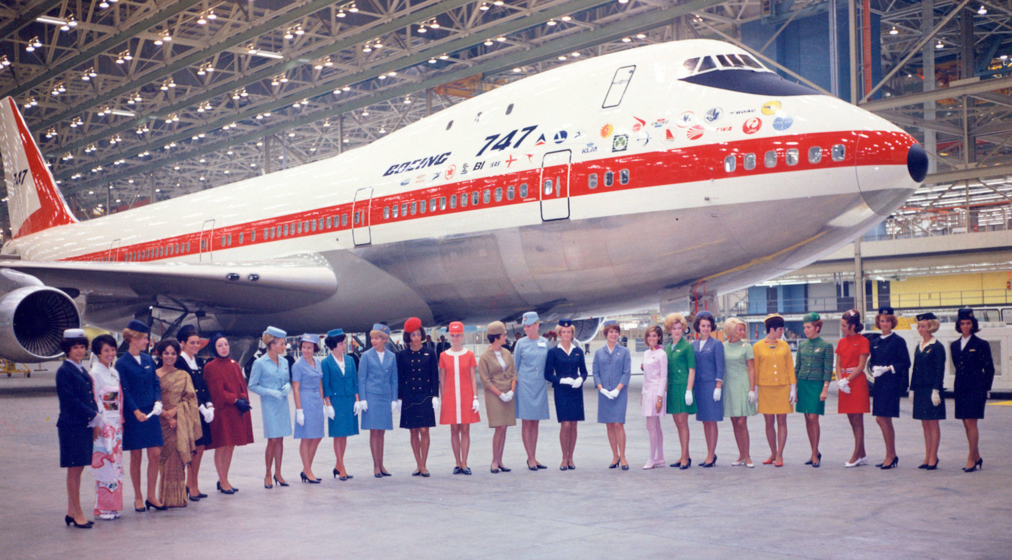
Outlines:
<svg viewBox="0 0 1012 560"><path fill-rule="evenodd" d="M79 529L91 529L92 522L81 509L81 473L91 465L92 442L96 439L102 415L95 404L91 377L81 365L88 351L88 339L81 329L64 331L60 348L67 359L57 370L57 397L60 417L60 467L67 469L67 515L64 522Z"/></svg>

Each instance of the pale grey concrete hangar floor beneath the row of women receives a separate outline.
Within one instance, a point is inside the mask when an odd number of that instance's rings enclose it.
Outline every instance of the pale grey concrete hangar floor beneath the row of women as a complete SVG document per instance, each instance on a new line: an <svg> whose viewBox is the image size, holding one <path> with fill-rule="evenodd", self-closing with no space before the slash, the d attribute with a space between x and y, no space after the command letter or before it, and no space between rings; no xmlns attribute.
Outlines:
<svg viewBox="0 0 1012 560"><path fill-rule="evenodd" d="M634 369L639 369L634 367ZM577 470L560 472L559 425L541 423L538 459L549 468L524 468L519 426L509 429L504 463L492 474L492 431L472 427L473 476L451 475L449 430L432 430L430 478L411 476L407 430L387 435L386 466L371 476L368 436L348 439L351 480L330 476L332 441L321 442L314 463L322 484L299 482L298 443L285 438L282 473L291 484L263 488L264 440L253 402L256 442L237 448L230 479L234 495L215 491L213 453L205 455L200 489L209 497L185 508L133 510L124 475L125 510L91 530L67 528L66 478L58 467L57 398L51 374L0 382L0 509L3 558L1008 558L1012 488L1012 406L992 400L981 421L984 470L963 473L965 437L958 421L941 426L940 464L919 470L924 455L920 423L903 400L896 421L898 469L844 469L853 439L835 413L835 388L822 422L821 468L803 463L810 448L799 414L788 415L785 464L762 465L768 447L761 416L749 419L754 469L732 467L738 452L731 424L720 426L718 463L700 468L702 430L690 417L688 470L641 467L649 453L639 408L642 377L634 376L626 414L629 470L608 469L604 427L596 424L597 395L584 388L588 421L581 423ZM483 397L484 398L484 397ZM254 397L254 400L257 400ZM951 400L947 401L951 418ZM553 418L555 411L553 407ZM292 414L293 416L293 414ZM395 418L395 426L397 421ZM678 439L664 418L665 458L678 459ZM883 447L865 416L872 463ZM124 458L124 469L129 459ZM81 502L94 519L93 481L82 477Z"/></svg>

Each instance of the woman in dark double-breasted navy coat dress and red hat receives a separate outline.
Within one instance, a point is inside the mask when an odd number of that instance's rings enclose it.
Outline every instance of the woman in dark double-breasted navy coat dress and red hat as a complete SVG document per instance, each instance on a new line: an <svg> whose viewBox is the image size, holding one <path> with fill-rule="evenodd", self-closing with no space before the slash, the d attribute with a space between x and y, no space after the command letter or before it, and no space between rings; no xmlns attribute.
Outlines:
<svg viewBox="0 0 1012 560"><path fill-rule="evenodd" d="M429 429L439 408L439 357L435 345L425 344L422 319L404 322L405 348L397 354L397 396L401 400L401 428L408 430L415 454L412 476L429 476Z"/></svg>

